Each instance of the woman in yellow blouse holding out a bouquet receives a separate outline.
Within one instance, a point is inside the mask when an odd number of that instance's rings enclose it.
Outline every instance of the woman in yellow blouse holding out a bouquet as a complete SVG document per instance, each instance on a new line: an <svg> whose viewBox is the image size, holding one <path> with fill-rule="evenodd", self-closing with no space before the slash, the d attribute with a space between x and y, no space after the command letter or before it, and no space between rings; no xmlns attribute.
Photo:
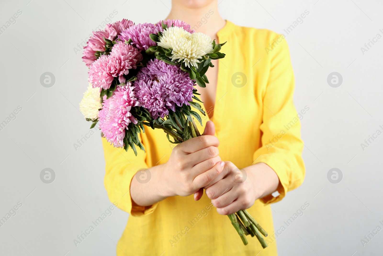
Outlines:
<svg viewBox="0 0 383 256"><path fill-rule="evenodd" d="M146 153L137 157L103 139L106 190L131 215L117 255L277 255L269 203L300 186L305 173L286 41L223 20L217 0L172 0L167 19L227 41L226 56L213 60L210 83L197 88L208 114L203 136L173 149L161 129L146 129ZM225 216L241 209L270 234L268 248L256 238L242 244Z"/></svg>

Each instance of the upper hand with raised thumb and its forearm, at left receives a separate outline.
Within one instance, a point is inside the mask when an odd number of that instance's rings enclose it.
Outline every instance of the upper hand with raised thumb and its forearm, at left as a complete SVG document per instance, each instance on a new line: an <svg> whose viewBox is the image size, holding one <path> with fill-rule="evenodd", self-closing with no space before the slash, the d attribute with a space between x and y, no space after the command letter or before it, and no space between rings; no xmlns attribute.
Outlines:
<svg viewBox="0 0 383 256"><path fill-rule="evenodd" d="M130 194L134 203L149 206L164 197L188 196L218 177L224 162L218 155L219 140L214 133L214 124L208 121L200 137L177 145L165 164L149 169L149 182L142 184L133 178Z"/></svg>

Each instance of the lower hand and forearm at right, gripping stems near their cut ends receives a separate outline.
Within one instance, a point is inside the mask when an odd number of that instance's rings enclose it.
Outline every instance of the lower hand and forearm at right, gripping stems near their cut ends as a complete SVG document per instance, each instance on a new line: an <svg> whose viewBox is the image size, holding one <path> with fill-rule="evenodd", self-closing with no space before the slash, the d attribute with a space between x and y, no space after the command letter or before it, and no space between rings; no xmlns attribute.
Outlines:
<svg viewBox="0 0 383 256"><path fill-rule="evenodd" d="M250 208L255 200L277 190L279 178L267 164L258 163L239 170L225 162L223 172L205 187L206 195L221 215Z"/></svg>

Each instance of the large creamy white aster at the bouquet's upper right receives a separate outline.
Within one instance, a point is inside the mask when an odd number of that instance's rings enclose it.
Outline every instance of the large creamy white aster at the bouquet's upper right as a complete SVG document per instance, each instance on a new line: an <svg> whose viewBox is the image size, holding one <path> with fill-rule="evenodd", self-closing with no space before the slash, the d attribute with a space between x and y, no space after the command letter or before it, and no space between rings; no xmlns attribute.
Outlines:
<svg viewBox="0 0 383 256"><path fill-rule="evenodd" d="M198 66L198 59L213 52L210 36L204 33L191 34L177 26L164 30L157 45L172 49L172 60L183 60L187 67Z"/></svg>

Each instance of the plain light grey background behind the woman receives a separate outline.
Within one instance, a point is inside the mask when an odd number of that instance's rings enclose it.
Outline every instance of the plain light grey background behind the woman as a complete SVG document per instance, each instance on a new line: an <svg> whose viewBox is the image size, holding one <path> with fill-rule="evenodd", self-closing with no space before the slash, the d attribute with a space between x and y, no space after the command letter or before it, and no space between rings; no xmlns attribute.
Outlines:
<svg viewBox="0 0 383 256"><path fill-rule="evenodd" d="M0 218L17 202L23 204L0 227L0 254L114 255L128 218L119 209L77 247L73 242L111 205L103 186L99 132L74 148L89 132L79 112L87 67L74 48L113 10L118 11L113 22L156 22L169 13L170 0L29 1L0 4L0 26L22 11L0 35L0 122L18 106L23 108L0 131ZM146 12L140 13L142 9ZM287 36L296 75L296 109L310 108L302 120L306 179L272 205L275 228L306 201L310 205L278 236L279 254L381 255L383 231L364 247L360 240L376 226L383 228L383 135L364 151L360 144L383 130L383 38L364 55L360 48L377 33L383 35L383 3L223 0L219 10L237 25L278 33L305 10L310 12ZM343 77L338 88L327 84L334 71ZM44 72L56 77L51 88L39 82ZM53 183L40 180L44 168L56 173ZM342 171L340 183L327 180L331 168Z"/></svg>

